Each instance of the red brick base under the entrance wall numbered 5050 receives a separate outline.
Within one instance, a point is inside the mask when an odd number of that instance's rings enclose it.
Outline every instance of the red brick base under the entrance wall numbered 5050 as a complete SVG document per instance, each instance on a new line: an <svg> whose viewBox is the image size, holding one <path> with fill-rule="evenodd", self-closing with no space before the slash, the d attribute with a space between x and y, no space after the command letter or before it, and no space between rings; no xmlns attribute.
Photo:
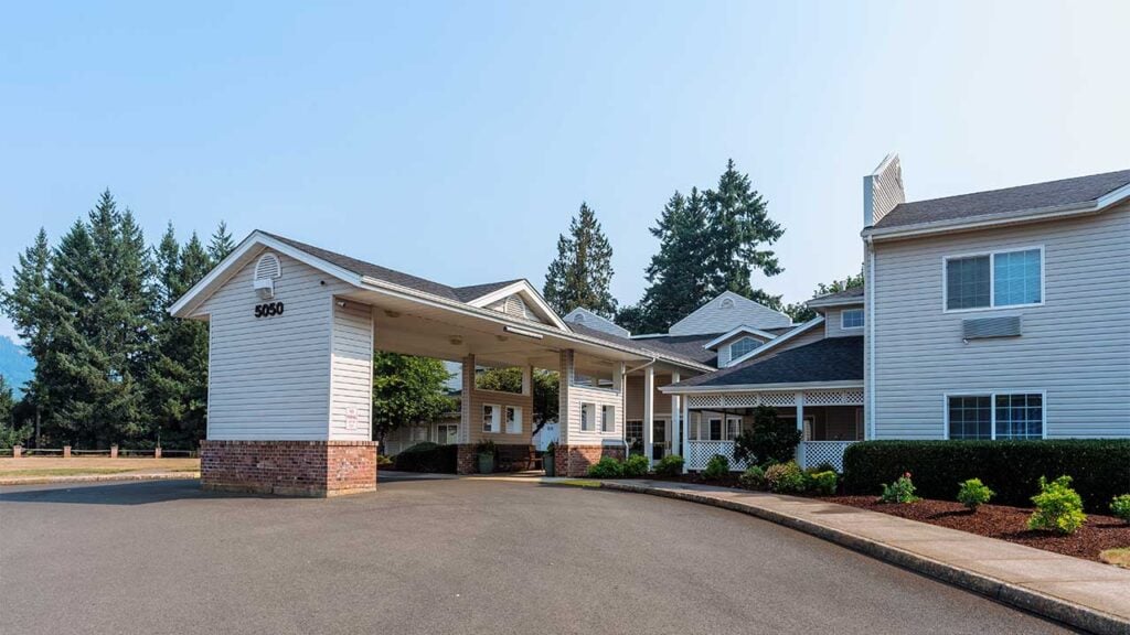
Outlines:
<svg viewBox="0 0 1130 635"><path fill-rule="evenodd" d="M201 441L205 489L340 496L376 489L372 441Z"/></svg>

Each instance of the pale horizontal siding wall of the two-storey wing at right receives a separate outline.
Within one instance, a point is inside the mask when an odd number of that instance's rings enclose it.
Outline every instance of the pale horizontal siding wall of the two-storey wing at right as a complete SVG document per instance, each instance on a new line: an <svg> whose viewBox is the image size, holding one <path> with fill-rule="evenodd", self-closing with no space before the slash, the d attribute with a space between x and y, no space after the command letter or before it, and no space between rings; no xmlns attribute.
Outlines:
<svg viewBox="0 0 1130 635"><path fill-rule="evenodd" d="M1036 245L1043 306L944 313L944 256ZM1048 437L1130 436L1130 206L876 250L878 438L942 438L944 394L963 391L1046 391ZM962 341L964 319L999 315L1023 336Z"/></svg>

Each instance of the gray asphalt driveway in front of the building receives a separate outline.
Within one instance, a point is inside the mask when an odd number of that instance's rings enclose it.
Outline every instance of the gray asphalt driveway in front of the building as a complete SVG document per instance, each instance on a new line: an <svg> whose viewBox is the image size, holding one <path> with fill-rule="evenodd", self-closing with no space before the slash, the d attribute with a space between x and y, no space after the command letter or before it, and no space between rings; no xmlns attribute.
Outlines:
<svg viewBox="0 0 1130 635"><path fill-rule="evenodd" d="M0 632L1062 633L750 516L463 480L0 488Z"/></svg>

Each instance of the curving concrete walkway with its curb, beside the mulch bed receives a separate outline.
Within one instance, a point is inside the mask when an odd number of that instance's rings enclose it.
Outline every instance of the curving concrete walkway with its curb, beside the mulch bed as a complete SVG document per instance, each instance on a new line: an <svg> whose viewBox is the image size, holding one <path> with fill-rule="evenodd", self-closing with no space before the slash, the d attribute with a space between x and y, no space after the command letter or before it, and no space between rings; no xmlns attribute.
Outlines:
<svg viewBox="0 0 1130 635"><path fill-rule="evenodd" d="M653 480L602 486L751 514L1084 630L1130 634L1130 571L1111 565L815 498Z"/></svg>

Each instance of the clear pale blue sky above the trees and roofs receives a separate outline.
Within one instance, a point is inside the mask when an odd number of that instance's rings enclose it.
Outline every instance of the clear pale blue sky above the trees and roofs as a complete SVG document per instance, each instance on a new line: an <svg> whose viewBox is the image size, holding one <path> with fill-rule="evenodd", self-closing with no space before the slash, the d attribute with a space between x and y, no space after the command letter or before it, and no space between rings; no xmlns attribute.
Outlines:
<svg viewBox="0 0 1130 635"><path fill-rule="evenodd" d="M12 3L0 278L108 186L151 241L226 219L540 287L588 201L633 303L663 202L733 157L786 227L754 285L805 299L859 269L888 151L911 199L1130 167L1127 24L1128 2Z"/></svg>

